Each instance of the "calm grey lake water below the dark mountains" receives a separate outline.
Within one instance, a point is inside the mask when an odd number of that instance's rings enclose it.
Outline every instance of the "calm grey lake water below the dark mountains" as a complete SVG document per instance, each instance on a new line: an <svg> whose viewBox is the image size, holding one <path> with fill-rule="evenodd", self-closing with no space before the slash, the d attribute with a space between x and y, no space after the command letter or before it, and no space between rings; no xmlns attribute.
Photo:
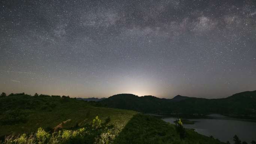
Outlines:
<svg viewBox="0 0 256 144"><path fill-rule="evenodd" d="M250 122L243 119L234 119L225 117L220 114L208 115L209 118L204 119L189 119L195 121L195 124L183 124L185 128L195 129L196 132L202 135L218 138L220 141L229 141L233 143L234 135L237 135L241 141L250 143L256 141L256 122ZM165 122L174 124L176 117L164 118Z"/></svg>

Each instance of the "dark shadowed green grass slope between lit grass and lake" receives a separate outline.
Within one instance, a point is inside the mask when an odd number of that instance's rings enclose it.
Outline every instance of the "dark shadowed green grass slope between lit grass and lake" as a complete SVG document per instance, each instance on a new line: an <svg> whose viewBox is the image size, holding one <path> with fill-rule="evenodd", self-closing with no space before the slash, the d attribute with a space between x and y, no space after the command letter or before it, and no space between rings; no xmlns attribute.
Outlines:
<svg viewBox="0 0 256 144"><path fill-rule="evenodd" d="M137 114L125 126L114 144L221 144L219 140L186 129L181 140L175 126L156 117Z"/></svg>

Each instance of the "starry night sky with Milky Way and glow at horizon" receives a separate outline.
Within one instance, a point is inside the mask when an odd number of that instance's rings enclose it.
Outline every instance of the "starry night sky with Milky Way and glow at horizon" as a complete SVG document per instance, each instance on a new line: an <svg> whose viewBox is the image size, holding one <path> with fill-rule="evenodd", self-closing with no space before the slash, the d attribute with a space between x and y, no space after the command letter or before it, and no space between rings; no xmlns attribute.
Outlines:
<svg viewBox="0 0 256 144"><path fill-rule="evenodd" d="M223 98L256 90L255 0L1 0L0 91Z"/></svg>

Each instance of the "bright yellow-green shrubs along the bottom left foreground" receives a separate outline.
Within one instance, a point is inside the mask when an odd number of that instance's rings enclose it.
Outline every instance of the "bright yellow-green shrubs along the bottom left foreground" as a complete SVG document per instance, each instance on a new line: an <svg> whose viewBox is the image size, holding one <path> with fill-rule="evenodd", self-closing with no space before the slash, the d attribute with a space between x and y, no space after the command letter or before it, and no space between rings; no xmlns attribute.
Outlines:
<svg viewBox="0 0 256 144"><path fill-rule="evenodd" d="M104 125L104 128L101 129L91 129L90 127L76 130L64 129L52 134L43 128L38 128L35 134L28 136L26 134L17 137L10 135L2 144L109 144L113 143L119 131L117 128L109 129L107 126L109 125Z"/></svg>

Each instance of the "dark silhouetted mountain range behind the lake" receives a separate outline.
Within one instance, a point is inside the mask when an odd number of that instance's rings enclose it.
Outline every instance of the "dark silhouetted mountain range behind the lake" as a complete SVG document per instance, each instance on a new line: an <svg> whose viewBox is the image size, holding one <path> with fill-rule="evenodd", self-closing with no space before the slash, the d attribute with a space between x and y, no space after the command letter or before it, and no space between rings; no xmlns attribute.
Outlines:
<svg viewBox="0 0 256 144"><path fill-rule="evenodd" d="M155 96L118 94L100 101L104 107L135 110L154 114L211 114L256 118L256 91L234 94L227 98L205 99L177 95L172 99Z"/></svg>

